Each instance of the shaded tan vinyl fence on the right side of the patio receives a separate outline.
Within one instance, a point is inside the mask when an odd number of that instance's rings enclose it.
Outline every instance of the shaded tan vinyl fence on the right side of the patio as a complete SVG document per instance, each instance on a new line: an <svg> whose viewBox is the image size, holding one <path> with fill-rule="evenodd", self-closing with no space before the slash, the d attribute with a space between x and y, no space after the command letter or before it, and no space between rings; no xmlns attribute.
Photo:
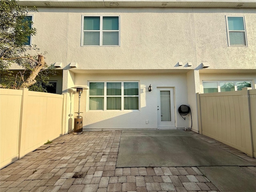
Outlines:
<svg viewBox="0 0 256 192"><path fill-rule="evenodd" d="M197 94L199 132L256 157L256 90Z"/></svg>

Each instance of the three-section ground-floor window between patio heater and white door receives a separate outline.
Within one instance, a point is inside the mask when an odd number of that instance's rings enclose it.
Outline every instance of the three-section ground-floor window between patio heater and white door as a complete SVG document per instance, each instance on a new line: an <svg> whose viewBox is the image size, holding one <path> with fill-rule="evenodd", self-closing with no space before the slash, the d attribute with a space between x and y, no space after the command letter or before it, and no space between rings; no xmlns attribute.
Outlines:
<svg viewBox="0 0 256 192"><path fill-rule="evenodd" d="M138 109L138 82L90 82L89 110Z"/></svg>

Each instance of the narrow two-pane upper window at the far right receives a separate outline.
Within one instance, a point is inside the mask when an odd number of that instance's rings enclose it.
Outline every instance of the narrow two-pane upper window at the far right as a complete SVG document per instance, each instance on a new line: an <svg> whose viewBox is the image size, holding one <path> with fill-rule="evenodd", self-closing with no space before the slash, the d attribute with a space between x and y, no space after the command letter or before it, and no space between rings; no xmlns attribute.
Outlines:
<svg viewBox="0 0 256 192"><path fill-rule="evenodd" d="M244 17L228 16L228 45L247 46Z"/></svg>

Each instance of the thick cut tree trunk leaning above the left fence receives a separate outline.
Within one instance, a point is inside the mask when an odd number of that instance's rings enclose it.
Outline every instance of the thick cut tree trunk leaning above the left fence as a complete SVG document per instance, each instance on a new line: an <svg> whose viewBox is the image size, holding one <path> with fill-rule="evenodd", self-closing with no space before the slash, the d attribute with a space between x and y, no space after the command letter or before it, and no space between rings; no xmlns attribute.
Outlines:
<svg viewBox="0 0 256 192"><path fill-rule="evenodd" d="M24 81L21 84L20 87L21 88L28 88L29 86L36 83L35 78L38 75L38 73L40 72L40 70L44 67L45 64L46 64L46 62L44 62L44 56L43 55L38 55L38 64L36 64L36 67L34 68L34 70L32 70L29 77L26 79L26 81Z"/></svg>

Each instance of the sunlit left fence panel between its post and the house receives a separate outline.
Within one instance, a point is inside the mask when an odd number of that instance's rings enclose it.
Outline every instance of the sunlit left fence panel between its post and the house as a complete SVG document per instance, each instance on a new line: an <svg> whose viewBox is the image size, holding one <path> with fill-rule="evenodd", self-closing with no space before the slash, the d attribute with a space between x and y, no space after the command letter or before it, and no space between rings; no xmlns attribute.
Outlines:
<svg viewBox="0 0 256 192"><path fill-rule="evenodd" d="M63 95L28 91L25 154L62 134Z"/></svg>

